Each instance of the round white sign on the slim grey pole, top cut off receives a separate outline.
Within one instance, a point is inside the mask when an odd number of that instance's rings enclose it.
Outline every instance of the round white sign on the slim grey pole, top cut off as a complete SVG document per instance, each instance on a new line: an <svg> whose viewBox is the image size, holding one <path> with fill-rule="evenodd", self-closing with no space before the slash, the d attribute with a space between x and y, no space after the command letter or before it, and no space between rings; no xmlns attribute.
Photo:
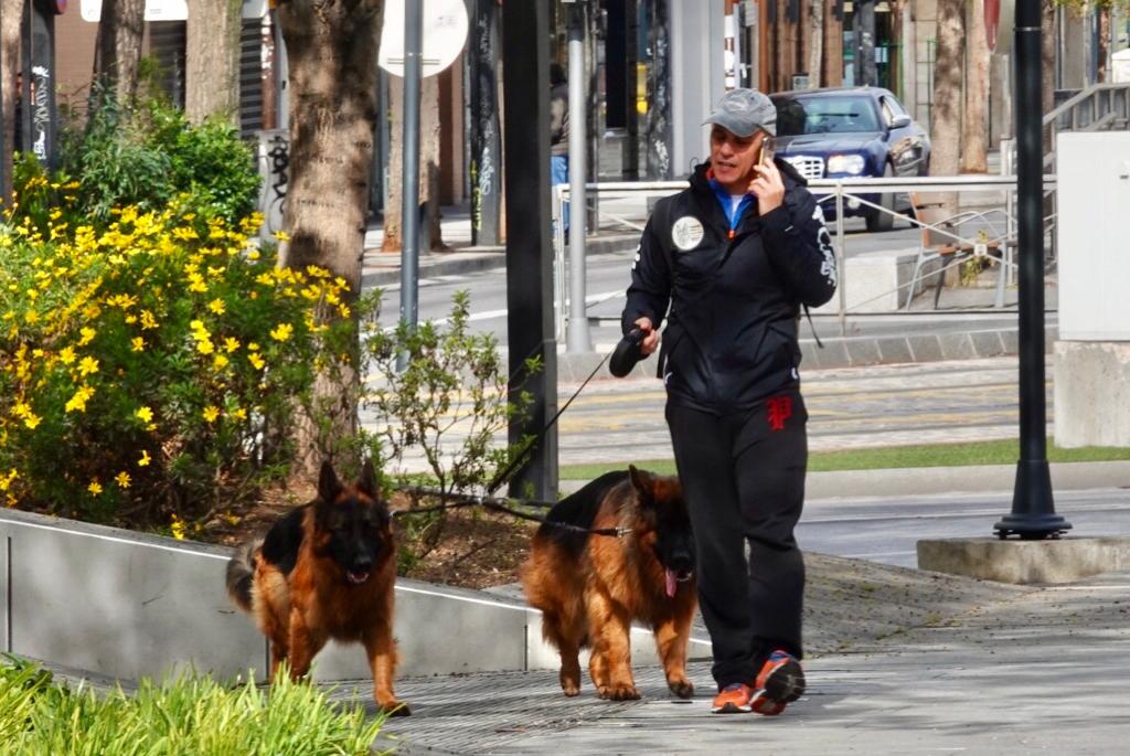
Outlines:
<svg viewBox="0 0 1130 756"><path fill-rule="evenodd" d="M421 76L435 76L454 63L463 51L467 43L467 6L463 0L424 0L423 26ZM405 75L405 0L388 0L384 3L379 63L393 76Z"/></svg>

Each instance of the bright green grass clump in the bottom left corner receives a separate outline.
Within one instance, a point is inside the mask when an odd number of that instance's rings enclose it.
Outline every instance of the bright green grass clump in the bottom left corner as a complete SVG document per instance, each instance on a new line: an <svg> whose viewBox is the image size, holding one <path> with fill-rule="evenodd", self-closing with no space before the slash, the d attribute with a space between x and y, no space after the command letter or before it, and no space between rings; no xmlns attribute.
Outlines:
<svg viewBox="0 0 1130 756"><path fill-rule="evenodd" d="M50 672L0 663L0 742L5 753L147 756L367 755L383 718L342 709L325 693L282 678L270 694L253 683L225 686L200 675L133 694L105 695L55 683Z"/></svg>

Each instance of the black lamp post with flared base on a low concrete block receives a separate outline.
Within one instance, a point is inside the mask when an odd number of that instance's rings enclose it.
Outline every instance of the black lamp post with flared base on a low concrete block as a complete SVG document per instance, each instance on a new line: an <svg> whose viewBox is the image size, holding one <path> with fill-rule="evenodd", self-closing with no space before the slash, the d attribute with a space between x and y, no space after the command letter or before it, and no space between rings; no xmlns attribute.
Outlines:
<svg viewBox="0 0 1130 756"><path fill-rule="evenodd" d="M1016 177L1019 277L1020 460L1012 512L998 537L1057 538L1071 524L1055 514L1048 467L1044 375L1043 113L1040 98L1040 0L1016 3Z"/></svg>

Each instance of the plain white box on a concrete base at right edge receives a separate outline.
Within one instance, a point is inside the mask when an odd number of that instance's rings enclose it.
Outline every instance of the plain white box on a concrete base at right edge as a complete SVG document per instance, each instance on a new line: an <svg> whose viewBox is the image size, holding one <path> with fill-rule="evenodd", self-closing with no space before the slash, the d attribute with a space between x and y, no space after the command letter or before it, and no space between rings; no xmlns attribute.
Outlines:
<svg viewBox="0 0 1130 756"><path fill-rule="evenodd" d="M1060 133L1059 338L1130 341L1130 132Z"/></svg>

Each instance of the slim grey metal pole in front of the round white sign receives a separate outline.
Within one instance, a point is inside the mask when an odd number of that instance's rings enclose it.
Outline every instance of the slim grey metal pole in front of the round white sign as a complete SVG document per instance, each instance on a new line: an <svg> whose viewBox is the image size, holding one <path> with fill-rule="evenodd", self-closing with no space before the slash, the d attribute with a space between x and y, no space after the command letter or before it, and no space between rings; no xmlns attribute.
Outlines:
<svg viewBox="0 0 1130 756"><path fill-rule="evenodd" d="M400 212L400 320L415 328L418 320L420 245L420 46L424 36L424 3L405 3L405 136L401 166L403 195Z"/></svg>

